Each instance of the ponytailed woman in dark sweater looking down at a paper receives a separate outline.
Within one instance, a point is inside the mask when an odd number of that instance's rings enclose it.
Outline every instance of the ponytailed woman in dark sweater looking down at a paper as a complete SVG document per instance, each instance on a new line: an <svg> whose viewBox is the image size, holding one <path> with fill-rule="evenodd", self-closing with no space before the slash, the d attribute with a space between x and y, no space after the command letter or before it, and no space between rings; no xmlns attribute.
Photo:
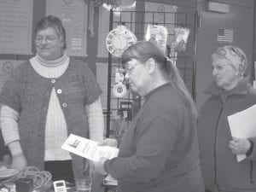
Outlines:
<svg viewBox="0 0 256 192"><path fill-rule="evenodd" d="M118 157L96 162L96 171L117 179L119 192L203 192L195 104L177 67L149 41L131 45L121 61L129 87L145 102Z"/></svg>

